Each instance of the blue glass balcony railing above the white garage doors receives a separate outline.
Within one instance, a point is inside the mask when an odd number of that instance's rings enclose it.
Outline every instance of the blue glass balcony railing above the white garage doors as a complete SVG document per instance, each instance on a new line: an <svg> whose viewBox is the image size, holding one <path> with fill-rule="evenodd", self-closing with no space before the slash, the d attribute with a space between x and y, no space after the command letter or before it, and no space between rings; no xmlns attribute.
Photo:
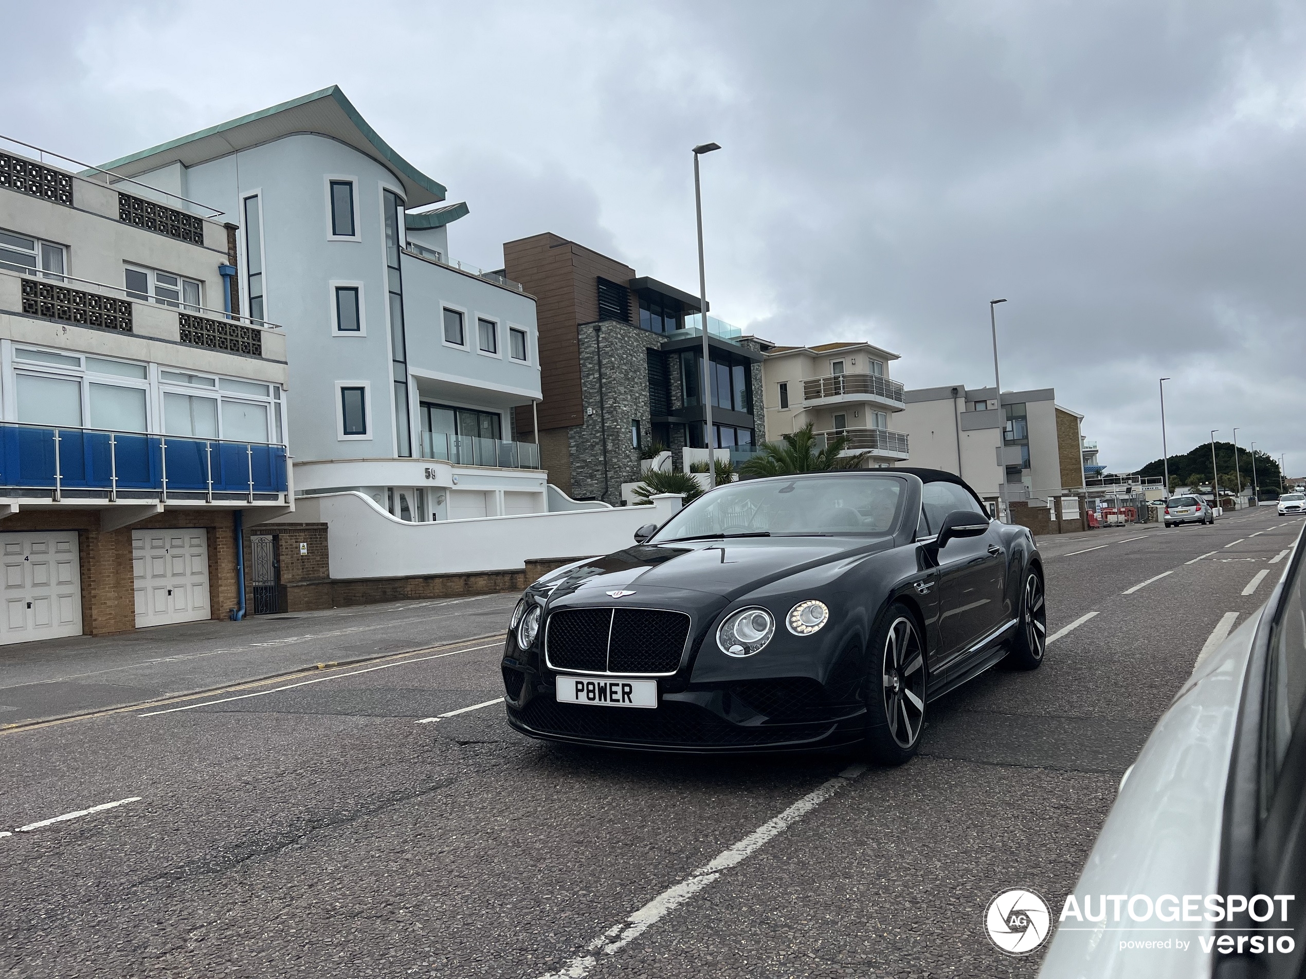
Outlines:
<svg viewBox="0 0 1306 979"><path fill-rule="evenodd" d="M286 466L285 445L0 424L0 493L253 503L286 492Z"/></svg>

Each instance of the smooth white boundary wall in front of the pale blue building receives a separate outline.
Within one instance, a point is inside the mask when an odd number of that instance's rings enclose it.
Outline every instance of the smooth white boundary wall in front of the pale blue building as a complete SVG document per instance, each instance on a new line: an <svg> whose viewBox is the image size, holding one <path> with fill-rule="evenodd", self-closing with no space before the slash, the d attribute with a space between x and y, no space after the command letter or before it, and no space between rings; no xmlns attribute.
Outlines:
<svg viewBox="0 0 1306 979"><path fill-rule="evenodd" d="M586 557L631 547L645 523L663 523L680 497L660 495L652 506L525 513L407 523L359 492L300 496L285 520L326 523L333 578L524 568L528 560ZM274 530L276 521L264 525Z"/></svg>

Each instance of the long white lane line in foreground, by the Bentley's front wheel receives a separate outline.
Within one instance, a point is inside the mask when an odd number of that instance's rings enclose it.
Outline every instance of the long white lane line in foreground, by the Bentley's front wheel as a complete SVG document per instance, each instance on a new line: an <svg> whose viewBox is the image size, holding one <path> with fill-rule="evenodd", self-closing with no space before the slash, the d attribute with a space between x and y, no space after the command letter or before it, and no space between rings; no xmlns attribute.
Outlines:
<svg viewBox="0 0 1306 979"><path fill-rule="evenodd" d="M742 863L751 854L784 833L790 825L835 795L835 792L846 786L863 771L866 771L866 765L849 765L846 769L835 775L835 778L804 795L773 820L761 824L757 829L731 846L729 850L717 854L710 863L700 867L679 884L663 890L656 898L644 905L644 907L629 915L624 922L613 925L606 932L599 935L585 946L585 952L588 954L577 956L556 972L549 972L541 976L541 979L584 979L584 976L589 975L590 970L598 965L598 959L594 953L613 956L620 952L626 945L635 941L635 939L666 918L666 915L677 907L712 884L724 871Z"/></svg>

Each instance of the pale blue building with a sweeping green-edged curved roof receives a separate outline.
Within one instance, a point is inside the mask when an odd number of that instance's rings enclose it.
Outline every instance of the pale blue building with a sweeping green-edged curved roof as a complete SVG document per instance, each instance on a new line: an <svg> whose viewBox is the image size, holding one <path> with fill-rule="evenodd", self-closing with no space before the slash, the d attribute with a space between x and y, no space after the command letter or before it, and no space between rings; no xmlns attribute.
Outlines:
<svg viewBox="0 0 1306 979"><path fill-rule="evenodd" d="M338 87L106 163L221 211L232 307L282 324L298 495L360 489L406 521L547 509L535 300L449 258L465 204ZM421 213L414 213L418 209Z"/></svg>

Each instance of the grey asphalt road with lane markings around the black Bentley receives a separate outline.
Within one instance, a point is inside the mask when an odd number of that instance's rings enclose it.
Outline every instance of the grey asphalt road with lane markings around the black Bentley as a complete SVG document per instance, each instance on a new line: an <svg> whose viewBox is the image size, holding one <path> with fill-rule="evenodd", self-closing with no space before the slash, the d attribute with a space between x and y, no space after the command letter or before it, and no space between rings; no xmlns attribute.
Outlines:
<svg viewBox="0 0 1306 979"><path fill-rule="evenodd" d="M985 906L1070 890L1298 530L1041 539L1049 628L1079 624L892 770L538 744L464 710L502 694L492 640L0 732L0 976L1033 975Z"/></svg>

